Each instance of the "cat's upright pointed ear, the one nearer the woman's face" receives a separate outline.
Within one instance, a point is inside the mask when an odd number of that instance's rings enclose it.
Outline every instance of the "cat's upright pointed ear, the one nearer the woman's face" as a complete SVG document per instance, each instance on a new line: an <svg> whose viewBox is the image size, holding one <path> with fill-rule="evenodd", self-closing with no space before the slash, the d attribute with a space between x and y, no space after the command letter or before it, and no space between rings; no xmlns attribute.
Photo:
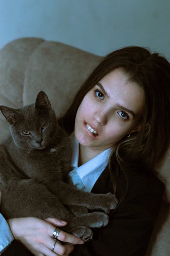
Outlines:
<svg viewBox="0 0 170 256"><path fill-rule="evenodd" d="M38 93L35 101L35 109L46 111L49 111L51 109L50 101L45 92L41 91Z"/></svg>

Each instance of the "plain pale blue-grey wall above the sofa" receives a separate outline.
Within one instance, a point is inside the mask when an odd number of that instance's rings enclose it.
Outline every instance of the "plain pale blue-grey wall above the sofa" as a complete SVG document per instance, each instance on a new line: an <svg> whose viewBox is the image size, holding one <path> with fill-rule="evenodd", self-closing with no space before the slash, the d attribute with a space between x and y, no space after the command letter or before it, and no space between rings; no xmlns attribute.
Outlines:
<svg viewBox="0 0 170 256"><path fill-rule="evenodd" d="M0 48L20 37L105 55L127 45L170 59L169 0L0 0Z"/></svg>

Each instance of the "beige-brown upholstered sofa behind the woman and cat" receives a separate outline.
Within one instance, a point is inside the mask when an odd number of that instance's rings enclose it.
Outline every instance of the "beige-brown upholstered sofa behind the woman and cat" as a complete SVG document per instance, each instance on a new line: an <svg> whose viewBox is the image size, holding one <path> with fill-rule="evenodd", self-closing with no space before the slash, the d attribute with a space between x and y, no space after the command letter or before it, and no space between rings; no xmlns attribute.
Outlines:
<svg viewBox="0 0 170 256"><path fill-rule="evenodd" d="M39 38L15 40L0 51L0 105L17 108L31 104L43 90L56 116L60 117L100 60L100 56L58 42ZM0 114L0 142L8 134L8 124ZM169 166L170 153L167 152L155 170L165 184L165 193L146 256L169 255Z"/></svg>

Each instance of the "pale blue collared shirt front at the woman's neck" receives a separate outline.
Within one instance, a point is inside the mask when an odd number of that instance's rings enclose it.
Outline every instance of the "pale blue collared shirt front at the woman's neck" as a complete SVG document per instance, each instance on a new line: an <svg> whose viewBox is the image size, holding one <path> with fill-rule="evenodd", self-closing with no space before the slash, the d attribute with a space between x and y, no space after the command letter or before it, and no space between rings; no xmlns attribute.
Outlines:
<svg viewBox="0 0 170 256"><path fill-rule="evenodd" d="M112 151L112 147L104 150L96 157L92 158L85 164L78 167L79 161L79 142L74 138L72 142L72 157L71 167L72 171L69 172L69 183L74 185L80 190L91 192L97 179L104 171L108 164L109 156Z"/></svg>

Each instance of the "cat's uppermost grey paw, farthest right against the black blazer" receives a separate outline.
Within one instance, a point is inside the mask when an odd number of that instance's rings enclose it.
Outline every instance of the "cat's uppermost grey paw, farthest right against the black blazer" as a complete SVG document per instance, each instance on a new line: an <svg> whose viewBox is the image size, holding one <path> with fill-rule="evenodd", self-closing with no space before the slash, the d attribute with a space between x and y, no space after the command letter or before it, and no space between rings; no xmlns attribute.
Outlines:
<svg viewBox="0 0 170 256"><path fill-rule="evenodd" d="M115 194L107 193L107 194L100 194L101 208L106 214L108 214L111 210L114 210L118 204L118 199L116 198Z"/></svg>

